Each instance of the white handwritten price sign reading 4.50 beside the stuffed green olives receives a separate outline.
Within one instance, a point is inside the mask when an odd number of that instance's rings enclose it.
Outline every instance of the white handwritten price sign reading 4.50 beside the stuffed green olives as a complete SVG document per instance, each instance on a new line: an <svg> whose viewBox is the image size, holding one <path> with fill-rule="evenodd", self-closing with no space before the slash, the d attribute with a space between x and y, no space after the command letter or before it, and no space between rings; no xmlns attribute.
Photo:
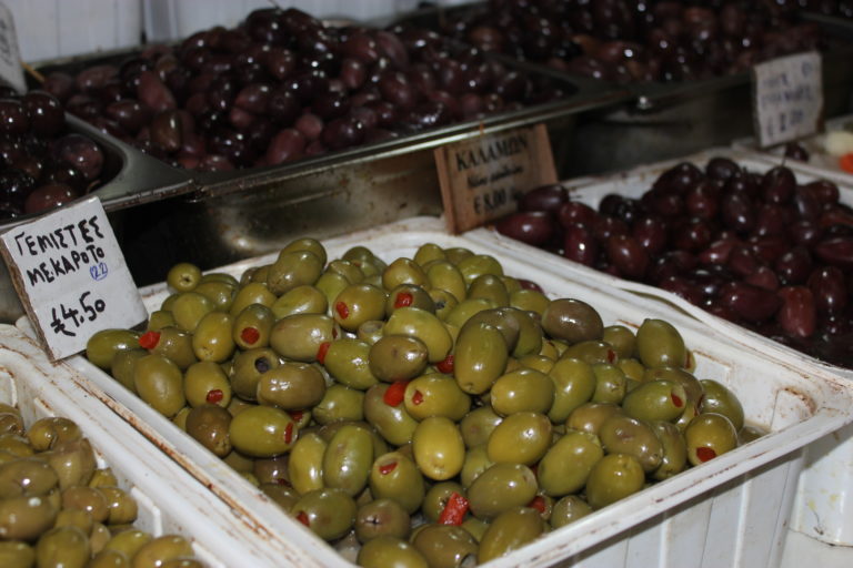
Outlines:
<svg viewBox="0 0 853 568"><path fill-rule="evenodd" d="M21 303L53 361L83 351L96 332L145 320L98 197L14 226L0 244Z"/></svg>

